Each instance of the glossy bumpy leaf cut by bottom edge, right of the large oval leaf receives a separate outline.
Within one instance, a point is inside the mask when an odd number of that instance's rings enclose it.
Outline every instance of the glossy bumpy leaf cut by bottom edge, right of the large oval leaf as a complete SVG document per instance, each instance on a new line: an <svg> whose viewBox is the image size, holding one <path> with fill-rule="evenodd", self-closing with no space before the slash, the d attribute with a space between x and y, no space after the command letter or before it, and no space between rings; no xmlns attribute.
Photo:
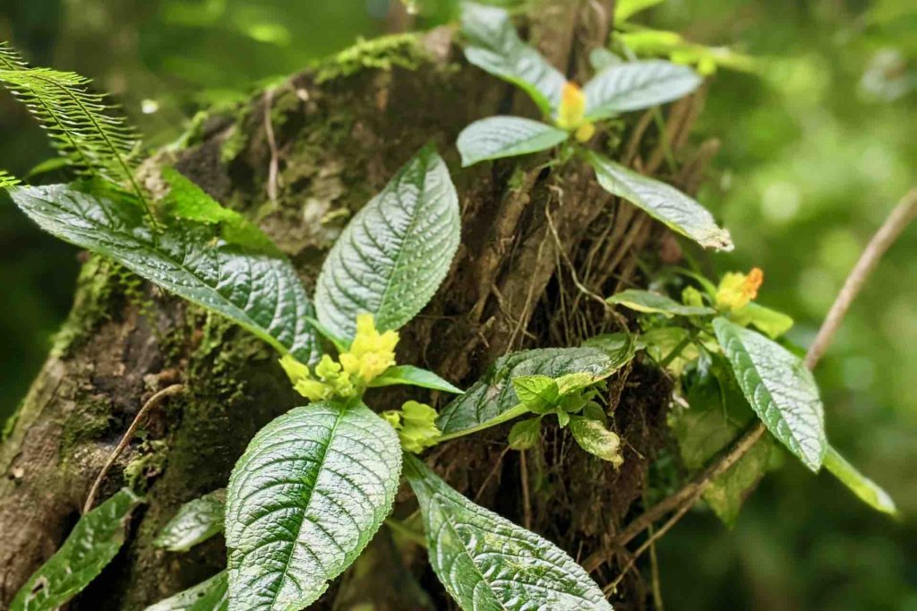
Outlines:
<svg viewBox="0 0 917 611"><path fill-rule="evenodd" d="M475 505L413 456L404 459L424 516L429 561L462 609L611 611L563 550Z"/></svg>

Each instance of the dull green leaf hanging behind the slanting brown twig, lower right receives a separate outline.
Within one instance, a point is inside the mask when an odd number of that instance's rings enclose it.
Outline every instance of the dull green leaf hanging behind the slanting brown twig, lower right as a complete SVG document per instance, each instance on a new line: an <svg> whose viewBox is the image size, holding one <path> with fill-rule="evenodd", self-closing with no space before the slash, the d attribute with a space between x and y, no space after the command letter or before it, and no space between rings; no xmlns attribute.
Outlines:
<svg viewBox="0 0 917 611"><path fill-rule="evenodd" d="M697 367L682 377L690 407L672 410L669 427L678 441L681 461L691 472L701 472L755 420L755 412L728 368L722 356L704 353ZM773 447L771 436L759 439L704 492L703 500L726 526L735 525L746 497L768 469Z"/></svg>

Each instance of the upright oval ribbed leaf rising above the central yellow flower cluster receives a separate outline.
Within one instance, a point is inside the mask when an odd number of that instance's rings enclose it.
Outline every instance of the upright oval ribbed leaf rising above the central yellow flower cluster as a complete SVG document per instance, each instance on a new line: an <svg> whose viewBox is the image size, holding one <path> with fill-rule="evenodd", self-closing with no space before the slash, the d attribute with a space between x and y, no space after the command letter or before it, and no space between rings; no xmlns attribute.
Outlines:
<svg viewBox="0 0 917 611"><path fill-rule="evenodd" d="M357 315L402 327L436 293L458 249L458 194L426 146L363 207L337 239L315 288L318 320L352 338Z"/></svg>

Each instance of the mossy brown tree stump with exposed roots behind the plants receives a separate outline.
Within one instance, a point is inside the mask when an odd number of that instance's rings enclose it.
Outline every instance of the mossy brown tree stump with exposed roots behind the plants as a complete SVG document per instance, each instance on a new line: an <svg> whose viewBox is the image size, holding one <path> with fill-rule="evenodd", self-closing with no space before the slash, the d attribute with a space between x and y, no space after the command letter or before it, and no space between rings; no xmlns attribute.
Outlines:
<svg viewBox="0 0 917 611"><path fill-rule="evenodd" d="M582 81L587 51L607 39L611 10L607 1L552 0L529 18L527 35ZM695 97L668 111L674 150L683 148L698 106ZM465 64L449 31L370 41L257 95L234 117L198 121L185 148L160 153L147 171L173 163L255 219L311 288L348 217L435 142L460 194L463 241L447 282L403 330L399 360L468 384L508 350L575 345L619 328L597 295L639 283L638 258L677 257L671 236L602 192L576 162L548 169L546 157L533 156L459 170L458 131L508 112L534 117L536 110ZM618 137L618 159L660 173L665 148L648 113L626 117ZM690 190L711 150L681 155L681 171L661 173ZM224 566L220 538L184 554L152 540L183 502L225 486L254 433L302 398L259 340L88 257L71 317L0 449L0 607L59 547L139 406L171 383L183 383L184 393L149 417L102 490L130 483L146 490L148 502L118 560L72 606L140 609ZM637 364L610 386L613 425L626 448L620 471L572 450L567 433L554 428L525 460L504 450L505 429L444 444L429 457L459 490L580 561L607 559L594 573L600 583L622 564L613 534L664 442L668 393L657 372ZM368 402L389 408L409 395L442 400L390 392ZM410 512L410 503L403 493L398 510ZM316 606L447 608L423 561L423 550L396 549L383 528L366 559ZM364 579L372 585L361 587ZM619 607L642 607L642 590L638 577L625 580Z"/></svg>

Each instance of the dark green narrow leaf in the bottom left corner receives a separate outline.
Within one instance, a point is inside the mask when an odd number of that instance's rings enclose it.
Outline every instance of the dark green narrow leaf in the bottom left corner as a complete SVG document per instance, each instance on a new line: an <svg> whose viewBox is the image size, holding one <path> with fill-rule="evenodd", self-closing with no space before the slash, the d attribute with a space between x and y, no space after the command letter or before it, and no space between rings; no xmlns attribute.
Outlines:
<svg viewBox="0 0 917 611"><path fill-rule="evenodd" d="M80 518L61 549L13 598L9 611L55 611L79 594L117 555L127 518L143 502L123 488Z"/></svg>

